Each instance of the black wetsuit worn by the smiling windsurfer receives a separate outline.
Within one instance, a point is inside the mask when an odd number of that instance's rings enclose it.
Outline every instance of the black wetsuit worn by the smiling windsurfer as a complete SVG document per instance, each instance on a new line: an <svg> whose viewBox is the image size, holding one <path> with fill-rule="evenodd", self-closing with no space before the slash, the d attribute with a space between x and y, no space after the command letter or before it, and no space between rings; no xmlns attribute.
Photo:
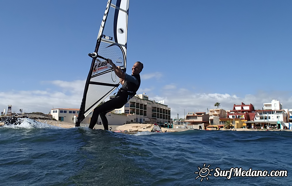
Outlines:
<svg viewBox="0 0 292 186"><path fill-rule="evenodd" d="M133 98L140 87L140 83L140 74L126 74L124 84L118 91L117 95L113 99L108 100L94 109L89 128L93 129L98 120L98 115L100 115L103 127L105 130L108 130L108 121L105 115L114 109L123 107L131 98Z"/></svg>

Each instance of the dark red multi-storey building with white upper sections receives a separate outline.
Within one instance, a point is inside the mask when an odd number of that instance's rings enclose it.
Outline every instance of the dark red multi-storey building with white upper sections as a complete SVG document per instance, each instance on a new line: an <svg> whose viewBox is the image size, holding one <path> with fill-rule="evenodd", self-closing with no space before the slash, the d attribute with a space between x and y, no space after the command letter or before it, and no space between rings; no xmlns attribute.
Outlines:
<svg viewBox="0 0 292 186"><path fill-rule="evenodd" d="M254 119L255 109L252 104L245 105L241 102L241 105L233 105L233 109L227 112L227 118L239 118L250 121Z"/></svg>

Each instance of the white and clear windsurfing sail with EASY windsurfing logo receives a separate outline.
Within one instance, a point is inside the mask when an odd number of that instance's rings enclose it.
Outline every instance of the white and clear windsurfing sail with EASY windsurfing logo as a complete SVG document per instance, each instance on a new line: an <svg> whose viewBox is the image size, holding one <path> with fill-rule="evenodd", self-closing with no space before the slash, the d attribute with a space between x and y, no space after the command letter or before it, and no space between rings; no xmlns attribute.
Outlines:
<svg viewBox="0 0 292 186"><path fill-rule="evenodd" d="M126 70L129 0L108 0L98 32L91 67L75 126L90 114L120 82L107 59Z"/></svg>

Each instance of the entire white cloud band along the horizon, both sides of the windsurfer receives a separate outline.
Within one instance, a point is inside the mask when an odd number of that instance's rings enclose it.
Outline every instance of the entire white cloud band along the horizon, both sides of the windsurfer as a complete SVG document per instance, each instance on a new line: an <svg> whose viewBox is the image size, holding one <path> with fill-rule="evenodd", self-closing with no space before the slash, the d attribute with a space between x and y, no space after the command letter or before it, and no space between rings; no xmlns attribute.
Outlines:
<svg viewBox="0 0 292 186"><path fill-rule="evenodd" d="M25 112L44 112L48 113L54 108L79 108L84 91L84 80L78 81L46 81L43 83L53 84L62 88L30 91L9 91L0 92L0 110L6 109L7 105L12 105L12 111L16 113L21 108ZM165 91L167 88L171 91ZM151 91L155 91L153 94ZM171 108L171 117L174 119L179 114L184 117L187 112L207 112L208 109L216 108L214 104L220 103L220 108L230 110L233 104L239 105L253 104L255 109L261 109L263 103L277 99L283 104L283 108L292 108L292 96L289 92L265 92L259 91L256 94L238 96L229 93L196 93L186 88L176 88L174 84L166 85L161 88L161 94L155 87L139 89L139 93L149 92L150 100L164 100L164 104Z"/></svg>

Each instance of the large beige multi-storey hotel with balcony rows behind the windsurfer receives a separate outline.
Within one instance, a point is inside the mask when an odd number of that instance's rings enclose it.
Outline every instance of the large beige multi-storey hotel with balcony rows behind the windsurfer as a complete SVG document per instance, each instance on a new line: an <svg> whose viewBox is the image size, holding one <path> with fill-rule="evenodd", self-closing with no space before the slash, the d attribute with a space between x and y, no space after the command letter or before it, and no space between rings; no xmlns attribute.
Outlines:
<svg viewBox="0 0 292 186"><path fill-rule="evenodd" d="M114 96L110 96L109 99L112 98ZM145 94L139 94L131 98L122 108L115 109L114 112L134 114L135 121L138 123L171 123L171 109L162 103L149 100Z"/></svg>

